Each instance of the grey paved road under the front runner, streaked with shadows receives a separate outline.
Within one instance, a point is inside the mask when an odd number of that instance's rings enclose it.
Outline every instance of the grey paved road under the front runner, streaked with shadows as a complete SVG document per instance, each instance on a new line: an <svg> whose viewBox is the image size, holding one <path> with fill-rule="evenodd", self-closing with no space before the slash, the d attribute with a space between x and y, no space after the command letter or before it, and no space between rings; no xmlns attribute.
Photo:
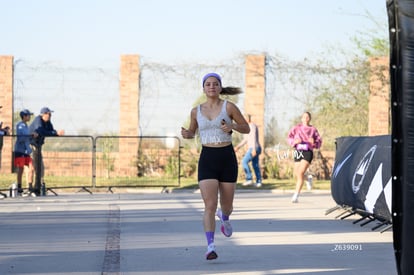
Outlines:
<svg viewBox="0 0 414 275"><path fill-rule="evenodd" d="M396 274L391 230L360 226L329 193L240 190L234 234L206 261L200 194L59 194L0 200L0 274Z"/></svg>

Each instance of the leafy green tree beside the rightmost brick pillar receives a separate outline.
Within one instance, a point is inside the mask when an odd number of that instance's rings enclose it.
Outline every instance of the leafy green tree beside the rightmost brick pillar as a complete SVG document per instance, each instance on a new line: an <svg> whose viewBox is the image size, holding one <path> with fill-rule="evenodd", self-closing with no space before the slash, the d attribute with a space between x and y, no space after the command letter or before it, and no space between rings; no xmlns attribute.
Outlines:
<svg viewBox="0 0 414 275"><path fill-rule="evenodd" d="M298 67L304 71L296 81L306 83L307 109L324 137L325 149L333 150L337 137L368 134L369 59L389 54L388 39L383 33L361 32L351 38L354 51L328 49L313 65ZM338 56L342 61L326 56Z"/></svg>

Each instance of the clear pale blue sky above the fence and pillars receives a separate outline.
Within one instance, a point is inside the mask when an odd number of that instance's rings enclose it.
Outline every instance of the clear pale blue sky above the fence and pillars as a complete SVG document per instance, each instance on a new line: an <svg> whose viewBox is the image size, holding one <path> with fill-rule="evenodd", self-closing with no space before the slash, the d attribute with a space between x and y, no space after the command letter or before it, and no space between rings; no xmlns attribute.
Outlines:
<svg viewBox="0 0 414 275"><path fill-rule="evenodd" d="M63 64L140 54L214 62L244 51L304 58L386 20L385 0L0 0L0 54ZM306 42L305 42L306 41Z"/></svg>

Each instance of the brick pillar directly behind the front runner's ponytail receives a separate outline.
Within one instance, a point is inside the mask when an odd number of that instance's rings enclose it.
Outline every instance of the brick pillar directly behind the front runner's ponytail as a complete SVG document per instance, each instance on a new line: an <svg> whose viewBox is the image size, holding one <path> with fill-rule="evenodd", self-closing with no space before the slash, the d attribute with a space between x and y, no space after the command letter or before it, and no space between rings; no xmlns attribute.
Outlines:
<svg viewBox="0 0 414 275"><path fill-rule="evenodd" d="M264 98L265 98L265 61L264 55L248 55L245 59L244 112L252 116L252 122L259 128L260 144L264 149ZM264 154L261 154L263 158Z"/></svg>

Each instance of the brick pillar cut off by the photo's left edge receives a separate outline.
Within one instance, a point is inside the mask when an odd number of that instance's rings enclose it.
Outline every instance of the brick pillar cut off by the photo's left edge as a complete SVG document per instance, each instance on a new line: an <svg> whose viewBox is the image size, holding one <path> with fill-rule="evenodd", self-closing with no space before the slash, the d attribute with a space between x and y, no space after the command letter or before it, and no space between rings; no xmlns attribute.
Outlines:
<svg viewBox="0 0 414 275"><path fill-rule="evenodd" d="M0 121L3 127L13 125L13 56L0 56ZM3 150L0 159L1 173L12 171L12 138L3 139Z"/></svg>

